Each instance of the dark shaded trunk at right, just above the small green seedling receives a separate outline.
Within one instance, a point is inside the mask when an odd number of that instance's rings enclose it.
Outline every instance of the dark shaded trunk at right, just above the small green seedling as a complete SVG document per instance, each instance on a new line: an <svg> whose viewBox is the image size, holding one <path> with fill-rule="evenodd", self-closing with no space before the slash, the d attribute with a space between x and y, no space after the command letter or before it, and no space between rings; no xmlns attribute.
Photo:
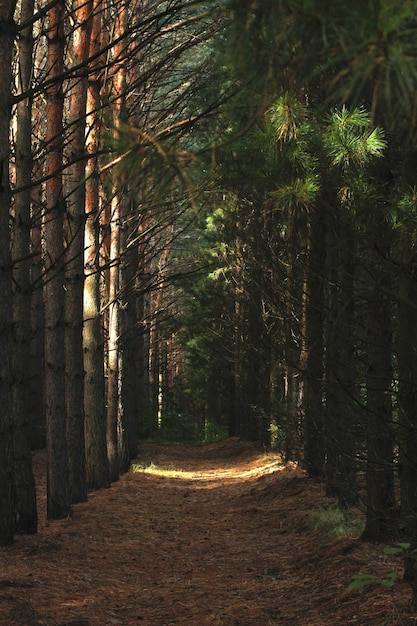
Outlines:
<svg viewBox="0 0 417 626"><path fill-rule="evenodd" d="M367 509L363 539L388 541L395 522L394 432L392 416L392 303L380 285L390 284L382 255L389 250L390 226L378 207L370 218L367 258ZM387 241L388 235L388 241Z"/></svg>

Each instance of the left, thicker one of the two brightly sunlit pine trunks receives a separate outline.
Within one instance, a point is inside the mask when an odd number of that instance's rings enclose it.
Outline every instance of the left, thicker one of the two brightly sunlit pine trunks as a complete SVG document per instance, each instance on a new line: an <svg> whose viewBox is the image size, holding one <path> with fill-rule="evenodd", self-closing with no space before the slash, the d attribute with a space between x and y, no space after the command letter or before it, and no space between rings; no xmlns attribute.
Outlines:
<svg viewBox="0 0 417 626"><path fill-rule="evenodd" d="M102 27L101 1L93 6L90 56L100 48ZM97 62L97 61L95 61ZM100 195L97 163L100 110L100 72L92 68L87 94L86 225L84 283L84 411L87 488L110 484L106 448L103 333L100 306Z"/></svg>

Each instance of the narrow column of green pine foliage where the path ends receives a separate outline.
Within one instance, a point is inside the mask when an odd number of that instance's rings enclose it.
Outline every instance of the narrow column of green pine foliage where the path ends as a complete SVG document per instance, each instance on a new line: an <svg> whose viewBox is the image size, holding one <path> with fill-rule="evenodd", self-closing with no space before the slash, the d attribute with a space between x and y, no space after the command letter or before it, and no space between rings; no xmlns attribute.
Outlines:
<svg viewBox="0 0 417 626"><path fill-rule="evenodd" d="M201 440L227 433L231 398L227 388L232 354L233 299L226 261L223 211L209 215L195 239L194 255L201 270L183 281L181 343L186 410L200 421Z"/></svg>

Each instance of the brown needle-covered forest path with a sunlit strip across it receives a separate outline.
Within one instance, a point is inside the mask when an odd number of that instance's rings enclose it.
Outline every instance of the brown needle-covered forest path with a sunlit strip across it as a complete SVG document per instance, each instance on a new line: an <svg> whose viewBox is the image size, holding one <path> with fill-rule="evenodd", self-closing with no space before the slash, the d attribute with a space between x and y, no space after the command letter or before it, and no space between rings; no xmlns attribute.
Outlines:
<svg viewBox="0 0 417 626"><path fill-rule="evenodd" d="M348 589L401 560L313 524L331 502L276 454L237 438L141 444L117 483L51 523L34 458L40 527L0 550L2 626L417 624L401 578Z"/></svg>

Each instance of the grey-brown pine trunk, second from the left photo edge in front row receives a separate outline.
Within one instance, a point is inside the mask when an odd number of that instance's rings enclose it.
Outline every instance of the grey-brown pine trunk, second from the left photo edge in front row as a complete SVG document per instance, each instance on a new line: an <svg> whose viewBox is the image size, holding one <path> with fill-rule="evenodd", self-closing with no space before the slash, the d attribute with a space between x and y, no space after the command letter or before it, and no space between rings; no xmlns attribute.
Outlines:
<svg viewBox="0 0 417 626"><path fill-rule="evenodd" d="M33 0L24 0L20 21L29 21L33 15ZM30 87L32 75L32 26L19 37L18 90L24 93ZM13 453L16 530L35 533L37 530L36 488L32 471L32 451L29 423L30 384L30 230L32 179L32 100L28 96L16 110L16 187L23 191L15 199L15 227L13 232Z"/></svg>

